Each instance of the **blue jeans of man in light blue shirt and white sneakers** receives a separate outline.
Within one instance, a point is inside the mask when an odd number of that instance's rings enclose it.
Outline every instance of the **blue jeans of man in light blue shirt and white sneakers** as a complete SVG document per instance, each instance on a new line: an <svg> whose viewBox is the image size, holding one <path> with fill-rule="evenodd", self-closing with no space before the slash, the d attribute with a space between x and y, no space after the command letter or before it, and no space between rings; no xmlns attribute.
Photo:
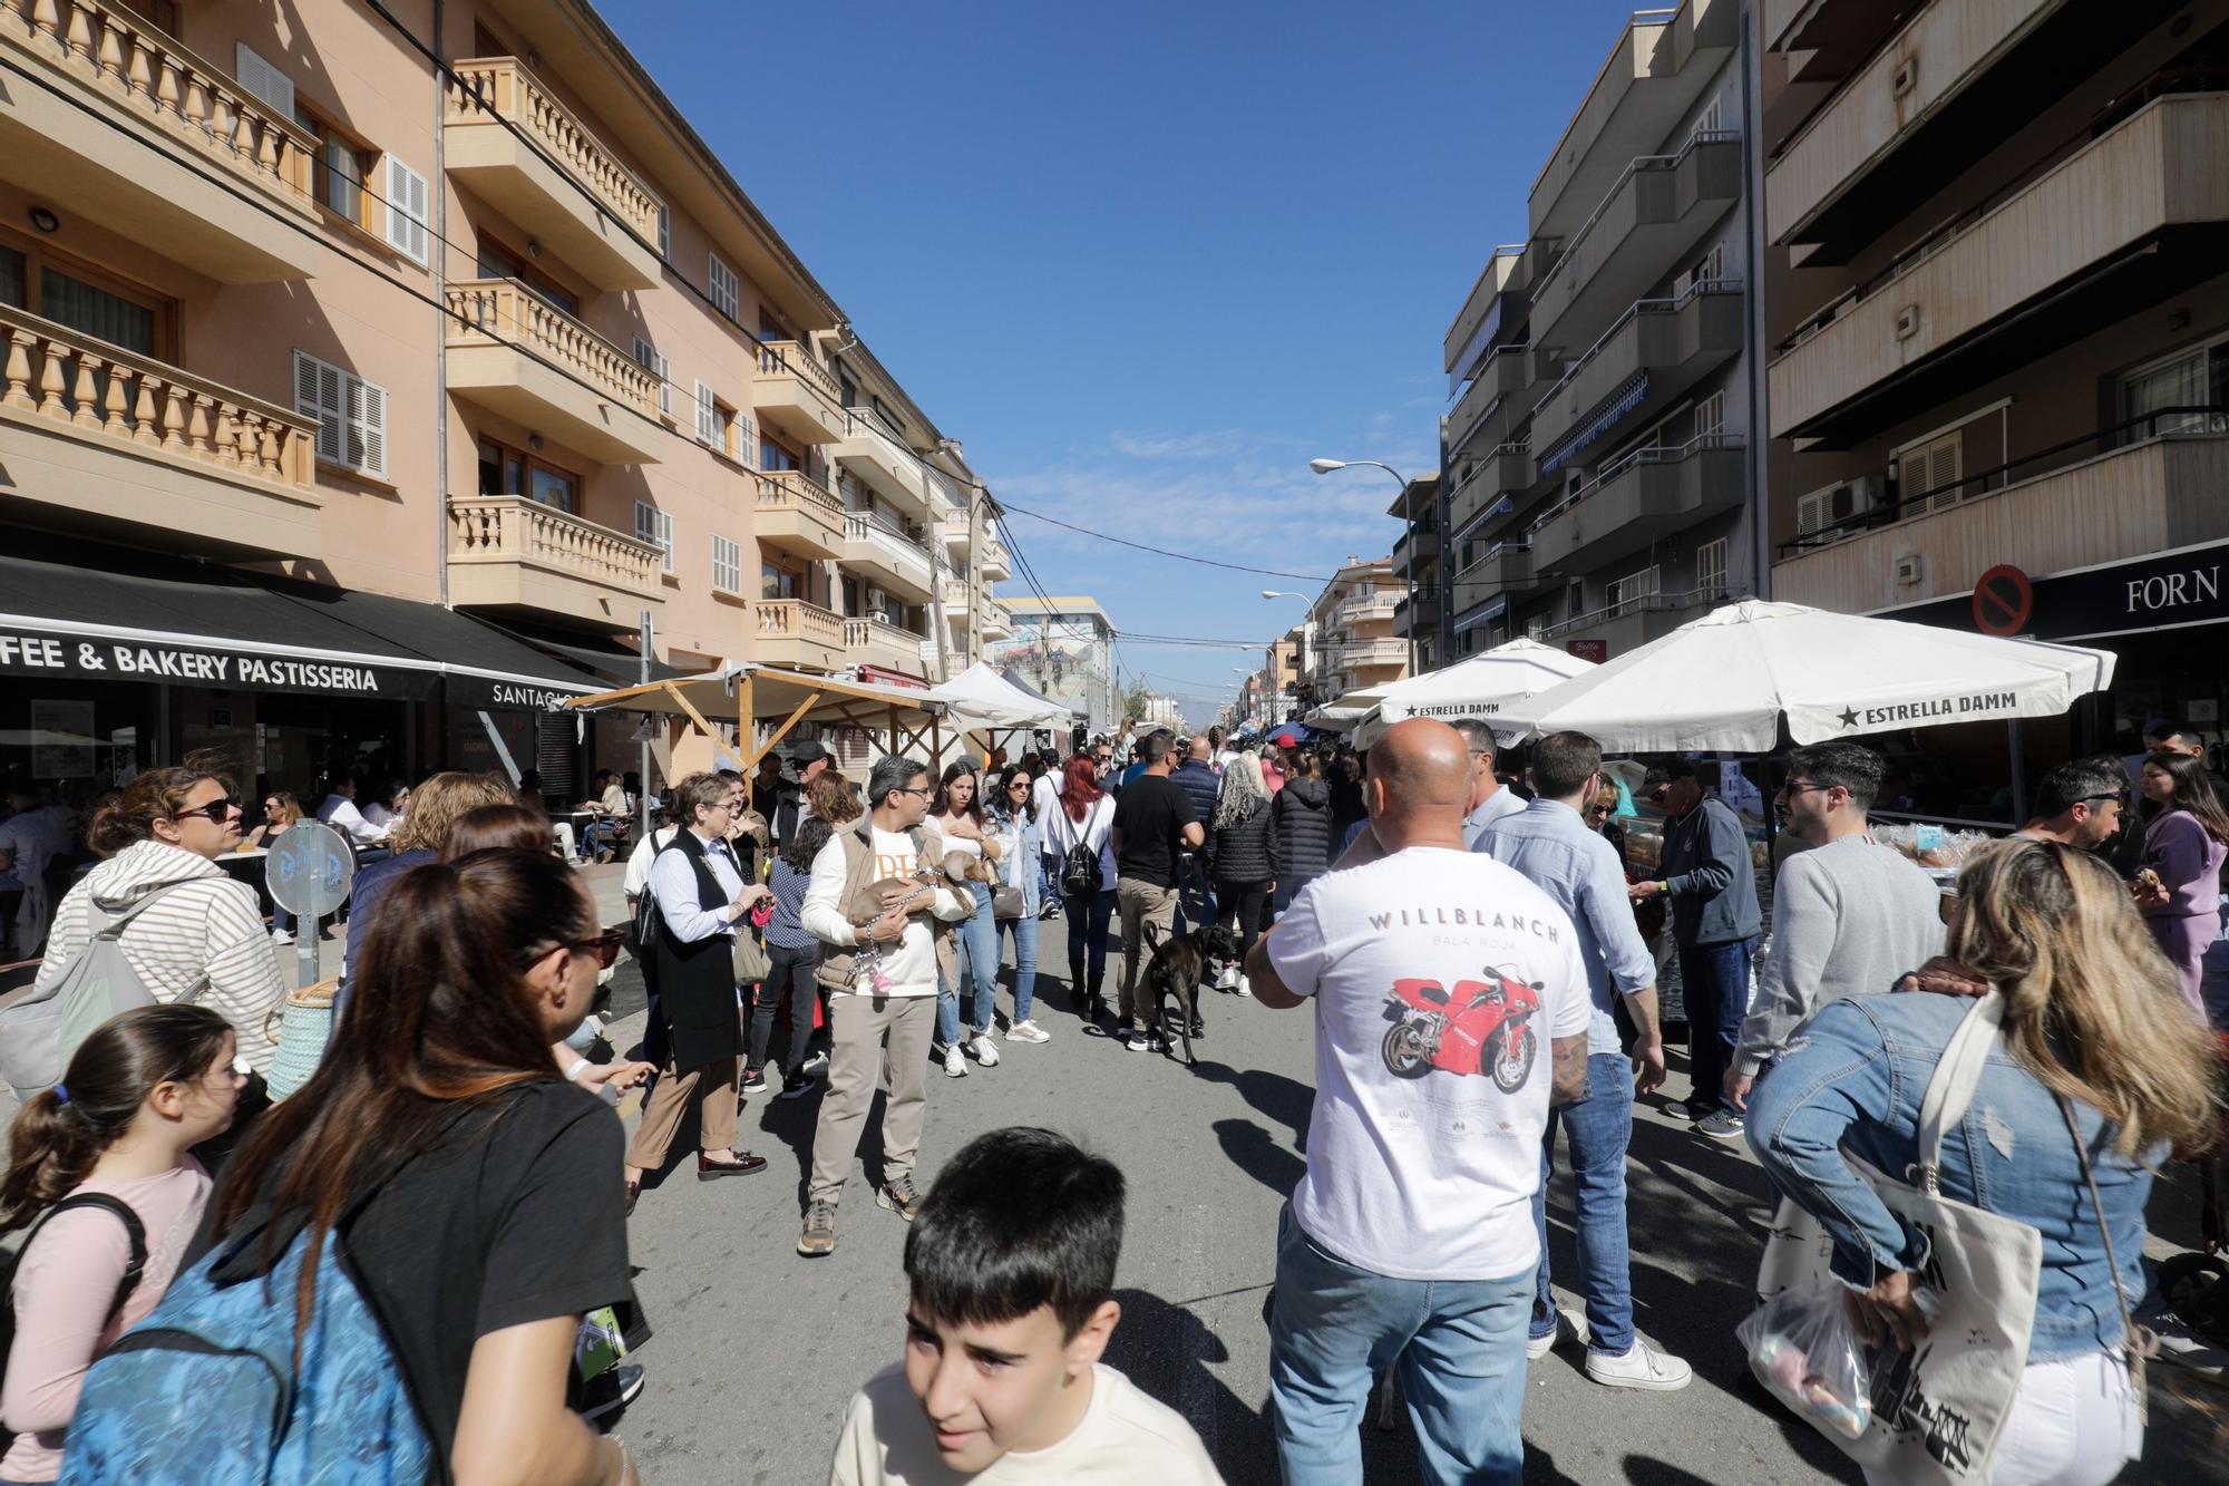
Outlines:
<svg viewBox="0 0 2229 1486"><path fill-rule="evenodd" d="M1587 1296L1587 1350L1625 1357L1634 1348L1634 1278L1625 1252L1625 1147L1634 1142L1634 1064L1623 1053L1587 1058L1587 1098L1551 1104L1540 1138L1540 1189L1534 1227L1540 1229L1540 1283L1534 1294L1531 1334L1556 1330L1556 1301L1547 1287L1547 1178L1556 1125L1571 1138L1571 1183L1578 1209L1578 1292Z"/></svg>

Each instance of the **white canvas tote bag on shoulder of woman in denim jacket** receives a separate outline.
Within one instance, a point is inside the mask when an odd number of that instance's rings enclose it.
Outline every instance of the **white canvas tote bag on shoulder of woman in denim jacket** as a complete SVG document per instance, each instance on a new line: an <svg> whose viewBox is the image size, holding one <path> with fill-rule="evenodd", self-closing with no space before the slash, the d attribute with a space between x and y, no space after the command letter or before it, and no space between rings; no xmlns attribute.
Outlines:
<svg viewBox="0 0 2229 1486"><path fill-rule="evenodd" d="M1959 1022L1919 1104L1919 1160L1910 1183L1843 1156L1906 1227L1928 1236L1912 1274L1933 1303L1928 1337L1910 1352L1895 1341L1868 1348L1872 1424L1857 1439L1821 1430L1850 1459L1904 1486L1988 1482L1997 1437L2028 1366L2035 1281L2044 1241L2026 1223L1941 1194L1944 1131L1966 1116L1982 1067L1997 1046L2004 997L1990 991ZM1803 1207L1781 1198L1756 1272L1770 1299L1788 1287L1839 1285L1834 1243Z"/></svg>

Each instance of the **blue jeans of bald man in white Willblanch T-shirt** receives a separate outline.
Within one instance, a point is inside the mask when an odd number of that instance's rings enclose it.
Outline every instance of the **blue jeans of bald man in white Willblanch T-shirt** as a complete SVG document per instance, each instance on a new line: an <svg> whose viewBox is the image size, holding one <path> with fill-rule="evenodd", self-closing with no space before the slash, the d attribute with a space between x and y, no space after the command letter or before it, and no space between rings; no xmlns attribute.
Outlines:
<svg viewBox="0 0 2229 1486"><path fill-rule="evenodd" d="M1400 1363L1427 1482L1518 1486L1525 1312L1534 1276L1402 1281L1360 1270L1277 1216L1268 1397L1284 1486L1362 1479L1355 1426L1371 1379Z"/></svg>

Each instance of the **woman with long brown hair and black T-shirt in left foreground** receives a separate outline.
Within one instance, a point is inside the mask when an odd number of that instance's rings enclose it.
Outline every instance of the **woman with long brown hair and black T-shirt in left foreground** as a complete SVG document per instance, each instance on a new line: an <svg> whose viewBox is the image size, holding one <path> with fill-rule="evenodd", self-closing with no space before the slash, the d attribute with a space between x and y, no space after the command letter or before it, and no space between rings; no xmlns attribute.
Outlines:
<svg viewBox="0 0 2229 1486"><path fill-rule="evenodd" d="M566 1410L582 1314L631 1299L624 1131L551 1067L604 953L548 852L403 872L317 1075L234 1156L214 1249L181 1278L256 1283L299 1252L301 1281L265 1303L308 1323L337 1245L457 1479L633 1479Z"/></svg>

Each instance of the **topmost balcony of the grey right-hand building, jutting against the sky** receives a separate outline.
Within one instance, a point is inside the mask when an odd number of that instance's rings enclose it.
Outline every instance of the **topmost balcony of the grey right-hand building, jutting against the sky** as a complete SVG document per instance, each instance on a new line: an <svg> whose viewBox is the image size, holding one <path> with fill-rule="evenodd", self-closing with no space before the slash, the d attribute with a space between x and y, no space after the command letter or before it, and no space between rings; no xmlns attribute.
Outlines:
<svg viewBox="0 0 2229 1486"><path fill-rule="evenodd" d="M1636 13L1534 178L1531 234L1569 241L1627 163L1694 109L1739 40L1739 0Z"/></svg>

